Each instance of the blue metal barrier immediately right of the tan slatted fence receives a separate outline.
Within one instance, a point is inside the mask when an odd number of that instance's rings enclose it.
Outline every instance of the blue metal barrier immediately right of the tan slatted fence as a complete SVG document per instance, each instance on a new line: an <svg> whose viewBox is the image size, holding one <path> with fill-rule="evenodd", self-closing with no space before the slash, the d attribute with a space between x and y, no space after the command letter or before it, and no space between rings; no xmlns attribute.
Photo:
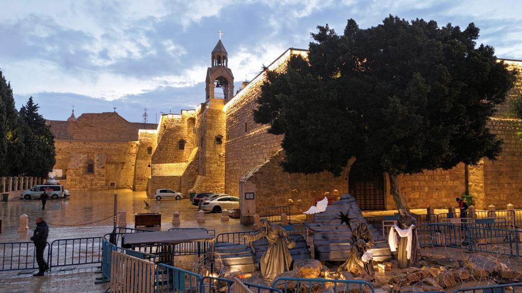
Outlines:
<svg viewBox="0 0 522 293"><path fill-rule="evenodd" d="M181 268L159 263L156 266L156 292L201 292L203 277Z"/></svg>

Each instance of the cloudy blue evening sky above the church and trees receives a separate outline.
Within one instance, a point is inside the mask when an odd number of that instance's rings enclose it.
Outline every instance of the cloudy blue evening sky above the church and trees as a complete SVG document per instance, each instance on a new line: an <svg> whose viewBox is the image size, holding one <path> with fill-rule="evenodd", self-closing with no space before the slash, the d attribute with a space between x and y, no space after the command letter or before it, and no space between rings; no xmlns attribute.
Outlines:
<svg viewBox="0 0 522 293"><path fill-rule="evenodd" d="M205 102L205 76L218 31L235 89L310 32L342 33L389 14L480 28L478 43L522 59L522 1L9 1L0 4L0 70L18 108L33 96L46 119L116 112L141 122Z"/></svg>

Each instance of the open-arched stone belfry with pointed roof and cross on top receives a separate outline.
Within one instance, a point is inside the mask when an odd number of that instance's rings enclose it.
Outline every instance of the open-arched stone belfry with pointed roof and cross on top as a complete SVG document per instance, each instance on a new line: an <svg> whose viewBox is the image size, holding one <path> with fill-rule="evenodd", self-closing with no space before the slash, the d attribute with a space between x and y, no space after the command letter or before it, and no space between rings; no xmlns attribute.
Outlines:
<svg viewBox="0 0 522 293"><path fill-rule="evenodd" d="M228 68L228 53L221 42L221 31L219 40L211 53L211 67L207 69L206 78L206 100L222 100L226 104L234 96L234 76Z"/></svg>

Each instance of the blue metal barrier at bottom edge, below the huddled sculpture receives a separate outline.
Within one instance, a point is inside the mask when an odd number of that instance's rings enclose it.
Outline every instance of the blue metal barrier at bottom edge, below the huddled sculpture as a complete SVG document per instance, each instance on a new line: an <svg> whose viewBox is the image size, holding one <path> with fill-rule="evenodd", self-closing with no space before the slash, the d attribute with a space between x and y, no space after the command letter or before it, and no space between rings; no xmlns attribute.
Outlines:
<svg viewBox="0 0 522 293"><path fill-rule="evenodd" d="M352 285L352 287L357 287L359 289L359 293L363 293L363 286L366 286L371 293L374 293L373 286L370 283L365 282L363 280L335 280L319 278L307 279L284 277L275 279L274 282L272 282L272 288L277 289L278 283L282 283L283 288L281 290L283 293L300 293L304 290L309 291L309 293L325 293L326 289L328 289L328 292L333 293L336 293L337 291L352 292L352 290L350 290L350 285ZM321 291L319 291L319 289L321 289Z"/></svg>

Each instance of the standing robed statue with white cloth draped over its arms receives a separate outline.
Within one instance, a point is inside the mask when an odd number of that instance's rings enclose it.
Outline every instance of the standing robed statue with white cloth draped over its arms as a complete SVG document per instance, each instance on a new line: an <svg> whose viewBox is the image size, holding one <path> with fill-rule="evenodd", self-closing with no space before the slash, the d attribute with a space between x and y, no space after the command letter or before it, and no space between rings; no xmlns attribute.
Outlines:
<svg viewBox="0 0 522 293"><path fill-rule="evenodd" d="M392 251L397 251L399 268L419 266L420 246L417 241L417 220L406 209L399 209L397 224L392 226L388 244ZM398 241L397 241L398 239Z"/></svg>

